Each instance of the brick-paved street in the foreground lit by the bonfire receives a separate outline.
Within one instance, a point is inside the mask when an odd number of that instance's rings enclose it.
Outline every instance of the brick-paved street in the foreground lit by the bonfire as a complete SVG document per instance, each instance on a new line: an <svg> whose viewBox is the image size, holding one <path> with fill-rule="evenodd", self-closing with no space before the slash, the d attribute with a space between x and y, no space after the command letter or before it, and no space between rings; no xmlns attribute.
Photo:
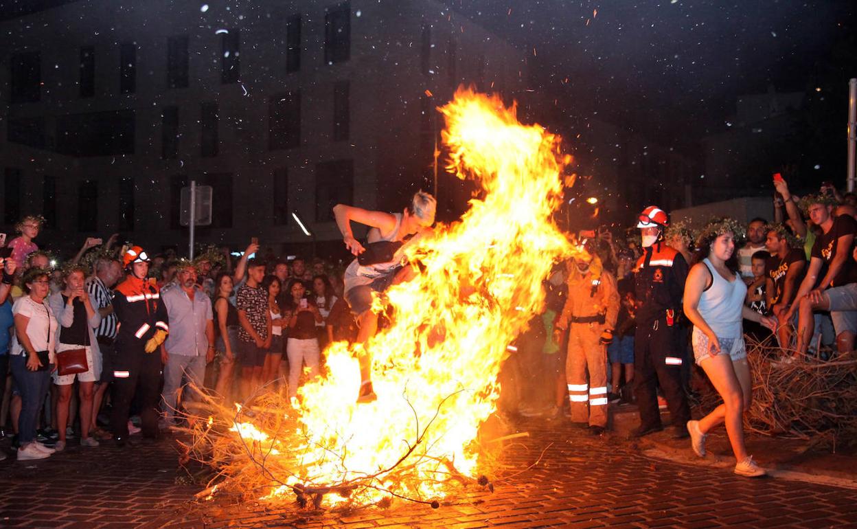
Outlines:
<svg viewBox="0 0 857 529"><path fill-rule="evenodd" d="M512 473L494 493L448 498L439 509L399 505L349 514L298 514L257 504L187 503L169 442L118 449L71 447L50 460L0 463L0 526L20 527L845 527L857 490L783 478L749 480L731 468L647 457L622 436L530 421L509 442ZM5 443L3 443L5 447ZM764 462L764 460L763 460Z"/></svg>

